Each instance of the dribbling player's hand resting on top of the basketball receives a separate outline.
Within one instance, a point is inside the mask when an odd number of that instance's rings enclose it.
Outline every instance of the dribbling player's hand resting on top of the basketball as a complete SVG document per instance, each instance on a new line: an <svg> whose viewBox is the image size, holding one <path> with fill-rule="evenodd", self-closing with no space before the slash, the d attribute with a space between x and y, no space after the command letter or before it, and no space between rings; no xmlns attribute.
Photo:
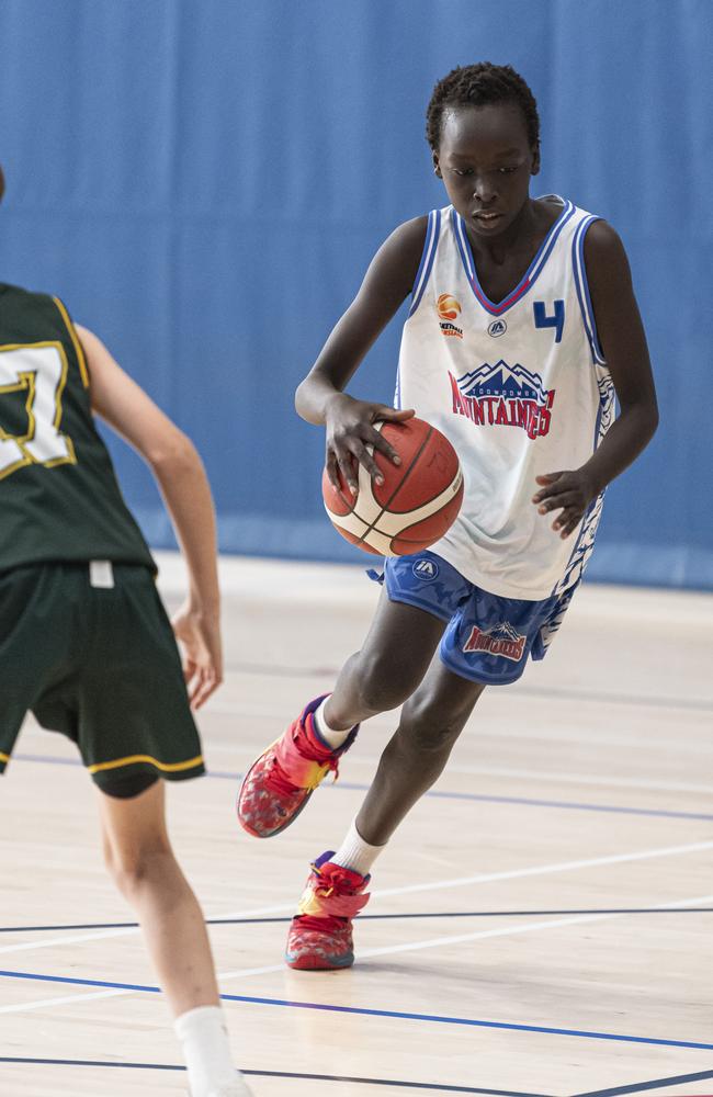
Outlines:
<svg viewBox="0 0 713 1097"><path fill-rule="evenodd" d="M366 400L354 399L347 393L337 393L331 397L325 411L327 429L325 466L333 487L339 489L339 473L341 473L349 490L352 495L356 495L360 464L376 484L383 484L384 477L366 446L372 445L374 450L380 450L395 465L400 465L401 459L386 439L374 429L374 423L380 419L404 422L415 414L414 408L397 410L387 404L370 404Z"/></svg>

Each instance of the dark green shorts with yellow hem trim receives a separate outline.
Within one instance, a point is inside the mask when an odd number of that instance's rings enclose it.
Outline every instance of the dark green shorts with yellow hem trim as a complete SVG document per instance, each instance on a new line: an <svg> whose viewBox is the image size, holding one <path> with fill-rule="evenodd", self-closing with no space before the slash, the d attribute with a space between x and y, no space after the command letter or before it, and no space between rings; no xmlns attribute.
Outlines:
<svg viewBox="0 0 713 1097"><path fill-rule="evenodd" d="M89 564L0 573L0 772L25 713L79 747L100 788L205 771L181 660L151 572Z"/></svg>

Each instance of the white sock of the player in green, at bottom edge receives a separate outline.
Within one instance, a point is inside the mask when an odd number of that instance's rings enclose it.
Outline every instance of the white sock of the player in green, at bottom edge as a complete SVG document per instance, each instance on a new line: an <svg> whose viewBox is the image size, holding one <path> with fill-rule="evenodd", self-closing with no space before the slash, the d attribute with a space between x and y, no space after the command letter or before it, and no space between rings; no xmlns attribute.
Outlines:
<svg viewBox="0 0 713 1097"><path fill-rule="evenodd" d="M173 1022L189 1072L191 1097L245 1097L249 1093L230 1054L219 1006L197 1006Z"/></svg>

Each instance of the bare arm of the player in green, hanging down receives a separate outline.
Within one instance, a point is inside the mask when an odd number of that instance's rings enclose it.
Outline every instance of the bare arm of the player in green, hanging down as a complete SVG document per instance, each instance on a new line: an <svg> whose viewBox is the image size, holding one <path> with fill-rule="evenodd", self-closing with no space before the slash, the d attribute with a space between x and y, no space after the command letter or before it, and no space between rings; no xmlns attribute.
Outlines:
<svg viewBox="0 0 713 1097"><path fill-rule="evenodd" d="M199 453L186 436L124 373L104 344L77 326L92 409L149 465L189 569L189 597L173 618L184 648L189 695L197 709L223 679L215 513Z"/></svg>

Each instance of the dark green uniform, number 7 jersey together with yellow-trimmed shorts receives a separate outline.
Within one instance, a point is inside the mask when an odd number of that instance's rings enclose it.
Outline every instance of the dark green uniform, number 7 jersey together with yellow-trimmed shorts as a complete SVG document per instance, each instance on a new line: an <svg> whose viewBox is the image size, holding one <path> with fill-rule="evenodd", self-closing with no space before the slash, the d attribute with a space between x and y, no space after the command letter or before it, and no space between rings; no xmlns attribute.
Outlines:
<svg viewBox="0 0 713 1097"><path fill-rule="evenodd" d="M155 572L64 305L0 283L0 772L29 710L107 791L204 771Z"/></svg>

